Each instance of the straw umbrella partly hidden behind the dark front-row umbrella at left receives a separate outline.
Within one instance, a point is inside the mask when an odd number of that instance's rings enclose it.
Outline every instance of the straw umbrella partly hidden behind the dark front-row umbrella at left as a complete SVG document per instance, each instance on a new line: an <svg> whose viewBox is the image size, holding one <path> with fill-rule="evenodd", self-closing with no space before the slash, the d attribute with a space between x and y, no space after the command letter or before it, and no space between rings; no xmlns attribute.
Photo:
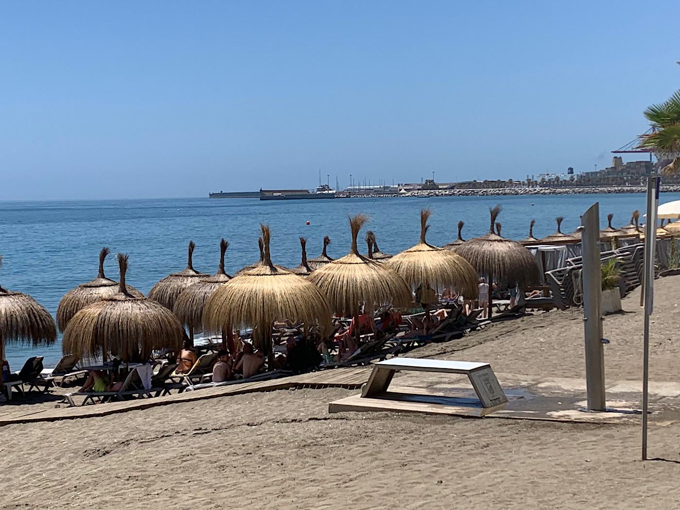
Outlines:
<svg viewBox="0 0 680 510"><path fill-rule="evenodd" d="M95 279L69 290L59 301L59 306L56 308L56 324L60 331L63 332L66 329L69 320L80 309L100 299L118 294L118 282L114 282L114 280L108 279L104 275L104 259L109 252L108 248L102 248L101 252L99 252L99 274ZM135 297L144 297L144 294L133 286L128 286L128 292Z"/></svg>

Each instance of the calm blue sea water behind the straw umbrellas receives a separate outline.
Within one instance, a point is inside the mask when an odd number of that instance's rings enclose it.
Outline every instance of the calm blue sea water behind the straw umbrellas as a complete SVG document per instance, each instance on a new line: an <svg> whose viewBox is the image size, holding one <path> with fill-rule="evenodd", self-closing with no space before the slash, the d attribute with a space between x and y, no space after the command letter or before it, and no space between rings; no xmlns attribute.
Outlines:
<svg viewBox="0 0 680 510"><path fill-rule="evenodd" d="M680 199L678 193L662 194L660 203ZM196 243L194 268L217 270L219 243L229 241L226 271L233 273L258 260L259 223L271 226L273 262L293 267L300 262L299 237L309 239L309 258L320 254L324 235L332 243L333 258L347 254L350 230L347 215L369 214L370 228L381 251L397 253L418 242L422 207L431 207L428 241L443 245L456 237L458 220L465 222L468 239L488 231L488 208L500 203L498 220L503 235L526 237L528 224L537 220L536 237L556 230L554 218L564 216L563 232L579 225L579 215L595 202L600 216L614 214L614 225L630 220L633 209L645 210L644 194L557 195L532 197L437 197L386 199L335 199L324 201L262 201L258 199L163 199L117 201L22 201L0 202L0 285L31 294L54 316L65 294L97 276L99 250L130 255L127 281L141 292L160 278L186 266L186 247ZM309 221L309 225L306 222ZM603 226L605 226L603 225ZM363 237L363 232L361 233ZM365 245L360 244L362 252ZM118 279L115 256L105 265L108 277ZM33 349L7 345L13 370L27 356L45 356L46 367L61 358L61 341Z"/></svg>

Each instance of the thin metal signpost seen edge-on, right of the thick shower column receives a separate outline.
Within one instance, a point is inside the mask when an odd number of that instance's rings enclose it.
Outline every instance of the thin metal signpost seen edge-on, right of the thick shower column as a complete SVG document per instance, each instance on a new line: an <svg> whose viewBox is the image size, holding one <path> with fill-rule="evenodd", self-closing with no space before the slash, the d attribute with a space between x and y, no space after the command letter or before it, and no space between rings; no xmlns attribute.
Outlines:
<svg viewBox="0 0 680 510"><path fill-rule="evenodd" d="M647 460L647 407L649 406L649 316L654 301L654 261L656 259L656 215L659 207L661 177L652 173L647 179L647 223L645 224L645 268L643 300L645 337L642 369L642 460Z"/></svg>

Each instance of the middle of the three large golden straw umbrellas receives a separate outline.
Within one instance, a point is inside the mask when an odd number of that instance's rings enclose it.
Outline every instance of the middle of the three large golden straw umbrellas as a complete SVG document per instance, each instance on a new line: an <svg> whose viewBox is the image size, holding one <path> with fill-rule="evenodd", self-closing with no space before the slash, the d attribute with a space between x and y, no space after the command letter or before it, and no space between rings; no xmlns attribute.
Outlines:
<svg viewBox="0 0 680 510"><path fill-rule="evenodd" d="M411 289L394 270L361 256L356 239L368 220L365 214L350 218L352 248L350 253L320 267L307 279L317 284L328 296L335 313L354 317L354 333L359 340L359 303L367 310L383 305L407 307L411 303Z"/></svg>

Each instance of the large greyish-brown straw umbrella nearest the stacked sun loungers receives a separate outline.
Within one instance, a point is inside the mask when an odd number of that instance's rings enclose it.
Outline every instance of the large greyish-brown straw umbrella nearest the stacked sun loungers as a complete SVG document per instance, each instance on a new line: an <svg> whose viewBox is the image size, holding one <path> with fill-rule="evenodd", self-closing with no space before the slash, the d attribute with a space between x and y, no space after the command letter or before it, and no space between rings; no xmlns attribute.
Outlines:
<svg viewBox="0 0 680 510"><path fill-rule="evenodd" d="M498 280L506 279L520 288L538 284L541 273L536 259L529 250L517 241L511 241L494 233L494 223L501 211L500 205L489 209L491 224L489 233L465 241L456 253L471 263L481 275L488 275L489 284L489 317L491 317L491 294L494 276Z"/></svg>

